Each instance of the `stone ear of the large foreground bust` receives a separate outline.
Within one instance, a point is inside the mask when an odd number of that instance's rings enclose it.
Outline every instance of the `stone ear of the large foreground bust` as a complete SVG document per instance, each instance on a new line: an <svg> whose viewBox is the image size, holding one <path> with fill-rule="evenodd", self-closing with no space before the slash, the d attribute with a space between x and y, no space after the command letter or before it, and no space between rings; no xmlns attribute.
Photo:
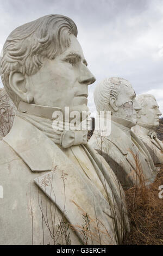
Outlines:
<svg viewBox="0 0 163 256"><path fill-rule="evenodd" d="M31 103L33 101L33 96L26 88L26 78L21 72L11 71L9 84L14 93L18 95L23 102Z"/></svg>

